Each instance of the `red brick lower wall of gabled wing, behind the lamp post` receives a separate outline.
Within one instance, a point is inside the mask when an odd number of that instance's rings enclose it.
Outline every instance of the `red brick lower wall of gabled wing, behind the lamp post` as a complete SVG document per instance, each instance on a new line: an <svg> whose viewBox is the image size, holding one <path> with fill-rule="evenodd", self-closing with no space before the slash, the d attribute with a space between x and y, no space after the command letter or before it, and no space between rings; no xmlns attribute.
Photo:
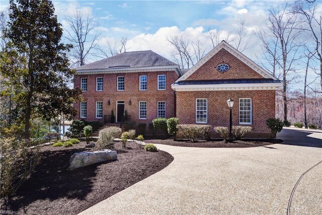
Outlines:
<svg viewBox="0 0 322 215"><path fill-rule="evenodd" d="M265 120L275 117L275 91L203 91L177 92L177 117L180 124L194 124L196 116L196 99L208 99L208 124L212 126L229 126L229 109L227 99L235 102L232 108L233 125L239 125L239 98L252 98L254 136L268 137L270 130ZM214 133L212 133L214 134Z"/></svg>

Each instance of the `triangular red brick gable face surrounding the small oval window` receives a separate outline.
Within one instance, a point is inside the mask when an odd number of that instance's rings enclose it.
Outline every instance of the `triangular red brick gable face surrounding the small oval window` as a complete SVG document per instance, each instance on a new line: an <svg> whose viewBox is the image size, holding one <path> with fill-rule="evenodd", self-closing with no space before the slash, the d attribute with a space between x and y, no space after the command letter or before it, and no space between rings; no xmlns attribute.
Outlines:
<svg viewBox="0 0 322 215"><path fill-rule="evenodd" d="M217 71L220 63L227 63L230 67L224 73ZM262 79L263 77L246 65L243 61L221 49L205 64L198 68L187 80L216 80L216 79Z"/></svg>

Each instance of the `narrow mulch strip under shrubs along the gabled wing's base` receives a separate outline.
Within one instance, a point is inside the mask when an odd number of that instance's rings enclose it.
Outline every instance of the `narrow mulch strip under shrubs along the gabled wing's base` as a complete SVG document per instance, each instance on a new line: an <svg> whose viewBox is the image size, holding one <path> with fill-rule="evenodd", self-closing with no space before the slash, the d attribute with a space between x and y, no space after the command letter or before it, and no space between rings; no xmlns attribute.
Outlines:
<svg viewBox="0 0 322 215"><path fill-rule="evenodd" d="M199 148L248 148L262 147L283 142L281 139L243 139L234 140L233 142L224 142L223 140L199 140L191 142L189 140L174 139L148 139L144 140L149 144L163 144L176 147L199 147Z"/></svg>

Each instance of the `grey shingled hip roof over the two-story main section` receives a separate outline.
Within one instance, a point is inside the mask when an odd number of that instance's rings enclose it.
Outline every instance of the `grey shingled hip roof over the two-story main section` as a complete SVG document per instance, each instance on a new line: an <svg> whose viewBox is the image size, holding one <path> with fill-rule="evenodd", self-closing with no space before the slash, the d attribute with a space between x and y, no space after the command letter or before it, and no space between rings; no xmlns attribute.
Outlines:
<svg viewBox="0 0 322 215"><path fill-rule="evenodd" d="M146 66L167 66L177 65L167 58L151 51L131 51L124 52L103 60L89 63L76 68L76 70L84 69L108 69L108 68L131 68Z"/></svg>

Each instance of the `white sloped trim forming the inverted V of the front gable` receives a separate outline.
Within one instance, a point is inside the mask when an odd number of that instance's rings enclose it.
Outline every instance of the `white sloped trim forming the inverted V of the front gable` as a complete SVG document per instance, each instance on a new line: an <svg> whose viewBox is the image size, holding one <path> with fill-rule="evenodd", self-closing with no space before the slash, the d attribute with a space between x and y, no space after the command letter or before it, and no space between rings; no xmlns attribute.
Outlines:
<svg viewBox="0 0 322 215"><path fill-rule="evenodd" d="M194 66L192 66L187 73L185 73L182 77L180 77L177 81L184 81L188 77L190 77L198 68L200 68L203 64L205 64L211 57L213 57L218 51L221 49L225 49L230 54L238 58L240 61L244 62L246 65L251 67L254 71L256 71L258 74L263 76L263 78L271 78L273 80L277 80L274 76L269 74L265 69L263 69L261 66L259 66L257 63L255 63L253 60L242 54L241 52L237 51L235 48L233 48L231 45L226 43L224 40L221 41L216 47L214 47L206 56L204 56L201 60L199 60Z"/></svg>

